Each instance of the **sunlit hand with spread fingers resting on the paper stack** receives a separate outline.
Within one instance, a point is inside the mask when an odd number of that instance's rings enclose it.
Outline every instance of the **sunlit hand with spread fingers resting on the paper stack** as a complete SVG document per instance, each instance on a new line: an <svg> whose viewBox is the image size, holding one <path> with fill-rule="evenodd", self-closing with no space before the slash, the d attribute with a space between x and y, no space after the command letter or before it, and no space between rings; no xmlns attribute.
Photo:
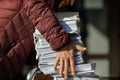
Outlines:
<svg viewBox="0 0 120 80"><path fill-rule="evenodd" d="M74 51L85 51L86 48L77 44L70 43L60 50L56 51L56 61L54 64L54 70L56 71L57 65L60 64L59 75L62 77L64 73L64 78L68 78L69 66L72 75L75 75L75 62L74 62Z"/></svg>

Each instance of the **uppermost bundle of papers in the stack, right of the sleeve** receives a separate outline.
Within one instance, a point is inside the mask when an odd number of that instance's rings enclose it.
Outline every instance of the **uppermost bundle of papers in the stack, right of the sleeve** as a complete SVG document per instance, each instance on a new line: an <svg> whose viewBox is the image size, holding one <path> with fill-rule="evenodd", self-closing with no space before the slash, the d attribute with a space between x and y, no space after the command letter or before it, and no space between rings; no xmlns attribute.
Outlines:
<svg viewBox="0 0 120 80"><path fill-rule="evenodd" d="M67 33L76 33L79 31L77 27L80 21L78 12L59 12L55 13L55 15Z"/></svg>

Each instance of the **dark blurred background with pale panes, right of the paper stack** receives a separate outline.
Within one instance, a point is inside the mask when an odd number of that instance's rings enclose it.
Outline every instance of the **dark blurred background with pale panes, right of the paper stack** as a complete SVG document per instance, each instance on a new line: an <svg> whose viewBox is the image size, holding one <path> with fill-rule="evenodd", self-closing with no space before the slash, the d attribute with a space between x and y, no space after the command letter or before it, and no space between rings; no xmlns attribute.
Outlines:
<svg viewBox="0 0 120 80"><path fill-rule="evenodd" d="M79 12L80 34L87 47L84 61L95 62L99 76L120 77L120 2L76 0L72 7L56 11Z"/></svg>

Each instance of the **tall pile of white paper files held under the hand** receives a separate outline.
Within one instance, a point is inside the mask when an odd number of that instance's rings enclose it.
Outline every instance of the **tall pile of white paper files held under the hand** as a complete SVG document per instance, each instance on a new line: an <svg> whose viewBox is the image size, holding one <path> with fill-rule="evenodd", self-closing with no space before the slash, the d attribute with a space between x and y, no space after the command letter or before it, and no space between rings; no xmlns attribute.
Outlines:
<svg viewBox="0 0 120 80"><path fill-rule="evenodd" d="M79 34L79 29L77 27L77 23L80 20L78 17L79 14L77 12L65 12L65 13L56 13L56 17L58 18L61 26L66 30L66 32L71 36L71 42L79 45L83 45L81 41L81 36ZM65 16L64 16L65 15ZM62 17L61 17L62 16ZM50 74L54 77L54 80L65 80L63 77L59 76L59 66L58 70L53 70L53 65L56 59L55 51L53 51L49 45L49 43L45 40L45 38L40 34L38 29L35 29L33 34L35 50L37 53L36 58L39 59L38 67L44 74ZM89 76L93 76L95 72L95 63L83 63L83 57L81 51L75 51L74 53L75 59L75 69L76 76L72 76L71 71L69 69L69 78L68 80L99 80L98 78L92 77L92 79L88 79ZM82 77L87 75L86 77ZM80 75L82 75L80 77Z"/></svg>

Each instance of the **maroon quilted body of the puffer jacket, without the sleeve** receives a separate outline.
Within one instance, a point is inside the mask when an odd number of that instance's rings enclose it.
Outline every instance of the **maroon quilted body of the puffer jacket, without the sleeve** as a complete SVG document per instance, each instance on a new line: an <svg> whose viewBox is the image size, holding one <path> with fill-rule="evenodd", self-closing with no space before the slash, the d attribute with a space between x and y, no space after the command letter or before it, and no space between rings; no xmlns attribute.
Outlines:
<svg viewBox="0 0 120 80"><path fill-rule="evenodd" d="M34 49L34 25L19 10L18 3L0 1L0 80L11 80Z"/></svg>

